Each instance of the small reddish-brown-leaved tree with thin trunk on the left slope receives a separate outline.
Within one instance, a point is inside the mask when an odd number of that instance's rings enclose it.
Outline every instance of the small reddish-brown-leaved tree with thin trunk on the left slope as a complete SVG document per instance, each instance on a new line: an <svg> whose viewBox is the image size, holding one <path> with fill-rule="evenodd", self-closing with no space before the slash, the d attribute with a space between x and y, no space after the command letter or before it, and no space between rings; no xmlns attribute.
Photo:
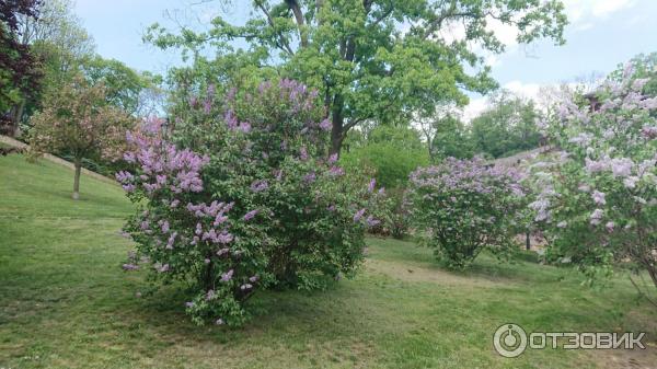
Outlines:
<svg viewBox="0 0 657 369"><path fill-rule="evenodd" d="M31 150L69 153L76 176L73 199L80 197L80 171L83 159L115 159L123 151L125 131L134 118L106 103L102 84L89 85L76 78L60 91L50 92L41 112L32 117Z"/></svg>

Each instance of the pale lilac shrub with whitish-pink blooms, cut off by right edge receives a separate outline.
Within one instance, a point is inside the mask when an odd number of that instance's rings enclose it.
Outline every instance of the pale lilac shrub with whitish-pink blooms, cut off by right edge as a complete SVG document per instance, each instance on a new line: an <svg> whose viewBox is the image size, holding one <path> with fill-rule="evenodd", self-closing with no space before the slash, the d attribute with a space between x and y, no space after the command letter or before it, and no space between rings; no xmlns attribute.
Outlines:
<svg viewBox="0 0 657 369"><path fill-rule="evenodd" d="M627 68L592 103L575 96L558 106L544 129L563 151L534 170L543 191L531 207L552 258L591 278L632 261L657 286L657 99L643 95L646 81Z"/></svg>

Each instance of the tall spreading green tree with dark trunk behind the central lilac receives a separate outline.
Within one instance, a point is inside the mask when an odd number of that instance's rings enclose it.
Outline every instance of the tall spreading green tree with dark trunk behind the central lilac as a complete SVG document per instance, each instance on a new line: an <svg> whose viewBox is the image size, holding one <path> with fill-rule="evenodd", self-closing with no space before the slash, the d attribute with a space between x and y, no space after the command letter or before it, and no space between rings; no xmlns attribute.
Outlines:
<svg viewBox="0 0 657 369"><path fill-rule="evenodd" d="M258 67L319 90L333 152L364 122L408 120L438 102L465 104L464 90L493 89L489 68L474 51L505 49L492 24L512 27L520 43L562 44L567 23L558 0L254 0L252 7L243 25L218 16L208 32L171 34L154 24L146 39L196 57L208 45L222 56L241 53L232 42L243 39ZM457 27L464 36L452 39L448 31Z"/></svg>

